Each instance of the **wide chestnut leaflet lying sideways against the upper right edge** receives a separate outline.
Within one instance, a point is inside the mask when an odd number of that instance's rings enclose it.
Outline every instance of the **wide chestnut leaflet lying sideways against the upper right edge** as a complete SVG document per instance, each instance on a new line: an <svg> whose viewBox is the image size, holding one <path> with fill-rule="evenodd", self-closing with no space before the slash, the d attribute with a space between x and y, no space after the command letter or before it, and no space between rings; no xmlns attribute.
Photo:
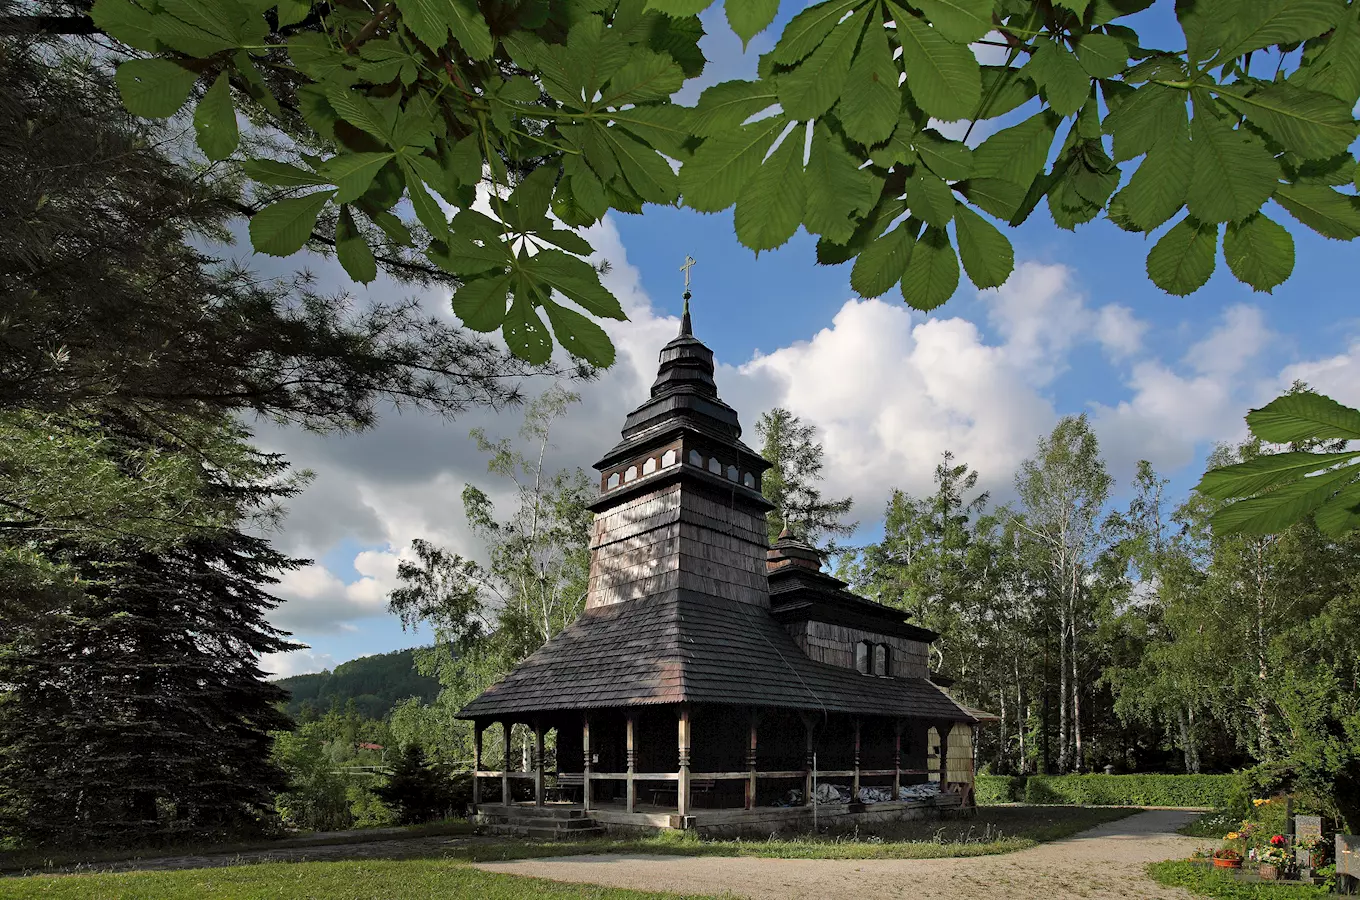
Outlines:
<svg viewBox="0 0 1360 900"><path fill-rule="evenodd" d="M1345 152L1357 125L1350 103L1281 82L1258 91L1235 86L1216 88L1228 106L1274 137L1281 147L1304 159L1326 159Z"/></svg>

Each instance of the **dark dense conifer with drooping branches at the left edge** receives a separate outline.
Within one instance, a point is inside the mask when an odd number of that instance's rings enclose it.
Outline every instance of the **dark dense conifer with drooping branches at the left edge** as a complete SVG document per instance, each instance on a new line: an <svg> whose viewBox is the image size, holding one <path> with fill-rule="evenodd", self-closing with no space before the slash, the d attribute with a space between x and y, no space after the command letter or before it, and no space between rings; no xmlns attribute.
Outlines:
<svg viewBox="0 0 1360 900"><path fill-rule="evenodd" d="M156 551L54 541L53 578L0 581L26 591L0 629L0 835L140 846L268 827L284 786L269 731L290 721L258 658L298 644L265 620L267 586L301 561L245 530L292 488L242 438L222 428L239 469L204 470L234 525Z"/></svg>

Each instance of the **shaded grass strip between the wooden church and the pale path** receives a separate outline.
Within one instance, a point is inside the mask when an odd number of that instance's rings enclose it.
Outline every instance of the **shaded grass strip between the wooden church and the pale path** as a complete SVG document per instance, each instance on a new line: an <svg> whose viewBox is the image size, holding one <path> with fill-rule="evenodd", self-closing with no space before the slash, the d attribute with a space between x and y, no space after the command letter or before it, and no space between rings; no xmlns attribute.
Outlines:
<svg viewBox="0 0 1360 900"><path fill-rule="evenodd" d="M702 840L684 832L649 837L594 837L574 842L506 840L468 844L454 852L475 862L566 854L645 852L679 856L774 856L783 859L940 859L985 856L1070 837L1137 809L1006 806L981 809L953 821L885 823L872 829L768 839Z"/></svg>

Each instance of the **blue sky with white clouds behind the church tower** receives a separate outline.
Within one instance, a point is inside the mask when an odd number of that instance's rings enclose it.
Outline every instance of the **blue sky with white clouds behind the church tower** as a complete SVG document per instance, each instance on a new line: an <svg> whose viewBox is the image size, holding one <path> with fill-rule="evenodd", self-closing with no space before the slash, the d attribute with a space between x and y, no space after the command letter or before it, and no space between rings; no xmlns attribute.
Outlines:
<svg viewBox="0 0 1360 900"><path fill-rule="evenodd" d="M1175 44L1168 14L1170 4L1160 3L1140 16L1145 44ZM703 83L752 75L768 39L758 37L743 54L721 19L710 15L706 24L713 63ZM684 99L695 95L690 88ZM857 499L860 540L880 532L894 487L929 489L944 450L1006 498L1015 466L1068 413L1091 415L1118 481L1115 502L1126 499L1140 458L1171 477L1179 495L1198 479L1214 442L1240 438L1247 409L1293 378L1360 402L1355 250L1291 230L1295 273L1273 295L1238 283L1220 258L1205 288L1172 298L1144 273L1149 241L1106 222L1066 232L1040 207L1010 232L1017 269L1006 285L979 294L964 281L926 317L907 311L895 294L855 298L850 266L816 265L813 241L802 232L756 257L737 243L730 212L613 215L589 237L613 265L607 283L630 321L611 326L619 362L581 387L582 402L555 432L552 458L589 468L615 442L624 413L646 393L657 351L675 333L679 266L688 254L699 261L695 332L717 355L719 390L748 435L774 405L817 426L827 489ZM316 260L314 268L322 281L341 283L332 262ZM400 291L379 281L355 298L394 299ZM423 299L447 310L446 296ZM317 474L277 534L286 551L316 560L284 579L277 593L286 602L275 615L309 650L269 666L316 670L427 640L385 612L397 559L415 537L480 552L458 495L468 483L500 502L509 494L486 473L468 431L509 436L518 424L511 411L457 421L388 415L367 434L325 439L261 427L262 443Z"/></svg>

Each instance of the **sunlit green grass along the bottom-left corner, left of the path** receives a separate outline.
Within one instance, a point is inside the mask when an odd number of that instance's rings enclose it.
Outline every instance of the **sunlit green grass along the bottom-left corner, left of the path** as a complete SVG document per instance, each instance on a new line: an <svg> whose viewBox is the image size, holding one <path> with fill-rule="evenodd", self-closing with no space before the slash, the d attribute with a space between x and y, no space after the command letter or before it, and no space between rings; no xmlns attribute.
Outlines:
<svg viewBox="0 0 1360 900"><path fill-rule="evenodd" d="M620 890L480 871L441 859L275 862L185 871L0 880L0 899L29 900L679 900L698 895Z"/></svg>

